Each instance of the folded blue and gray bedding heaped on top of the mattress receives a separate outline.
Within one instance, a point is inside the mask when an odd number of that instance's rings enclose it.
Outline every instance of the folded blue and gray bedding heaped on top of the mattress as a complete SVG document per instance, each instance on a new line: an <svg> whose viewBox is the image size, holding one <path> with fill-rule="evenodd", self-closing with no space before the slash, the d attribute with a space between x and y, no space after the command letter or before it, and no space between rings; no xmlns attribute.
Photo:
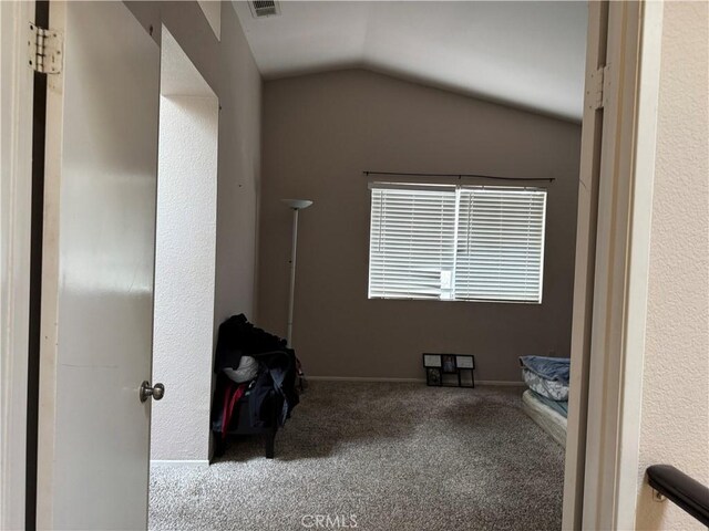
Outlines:
<svg viewBox="0 0 709 531"><path fill-rule="evenodd" d="M566 418L571 358L522 356L520 365L524 383L534 397Z"/></svg>

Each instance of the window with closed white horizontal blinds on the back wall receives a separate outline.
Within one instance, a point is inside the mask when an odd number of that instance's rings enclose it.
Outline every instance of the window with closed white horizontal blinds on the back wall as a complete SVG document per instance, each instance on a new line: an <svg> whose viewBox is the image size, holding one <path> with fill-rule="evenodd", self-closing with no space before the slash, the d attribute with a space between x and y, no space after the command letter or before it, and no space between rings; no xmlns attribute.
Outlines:
<svg viewBox="0 0 709 531"><path fill-rule="evenodd" d="M370 187L370 299L542 302L546 190Z"/></svg>

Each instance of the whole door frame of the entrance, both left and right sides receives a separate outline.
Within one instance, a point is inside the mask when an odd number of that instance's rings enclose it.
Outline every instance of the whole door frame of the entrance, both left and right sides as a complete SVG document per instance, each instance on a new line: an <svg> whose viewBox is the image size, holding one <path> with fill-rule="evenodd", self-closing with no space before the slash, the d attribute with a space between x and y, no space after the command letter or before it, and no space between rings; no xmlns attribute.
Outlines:
<svg viewBox="0 0 709 531"><path fill-rule="evenodd" d="M604 527L603 523L609 524L607 529L629 529L635 522L662 6L637 1L613 3L620 4L613 8L620 11L616 22L608 27L608 37L615 43L615 52L623 50L624 69L609 71L608 84L614 86L615 82L613 92L617 100L612 103L608 98L602 119L615 123L615 133L604 136L602 148L606 155L613 147L613 155L594 163L588 158L594 150L586 148L582 156L582 168L597 167L599 178L607 184L598 189L597 209L593 195L584 196L579 191L578 236L587 240L577 242L576 271L586 274L577 275L574 290L572 381L588 384L587 387L572 386L569 398L564 529L597 529ZM595 4L589 2L592 20ZM33 20L33 2L2 2L1 14L4 18L11 12L16 17L12 38L2 41L3 58L9 54L20 59L9 77L10 90L16 94L8 111L9 131L2 131L3 137L9 134L13 138L9 154L12 169L2 174L0 231L3 250L0 527L3 529L23 527L25 510L24 489L20 487L25 481L27 445L32 75L23 62L25 33L22 28L23 21ZM602 20L597 19L597 23ZM588 41L598 45L592 31ZM590 73L587 69L587 74ZM587 75L587 86L590 86L588 81ZM597 122L594 119L592 124L598 125ZM588 124L585 113L584 125ZM589 142L588 136L585 135L585 144ZM3 165L7 156L2 154ZM582 175L579 189L588 184L583 179ZM9 197L6 189L10 190ZM606 215L612 222L598 223L599 219L606 220ZM606 346L612 348L602 351ZM599 352L604 354L600 357ZM592 354L596 355L593 364ZM610 367L618 369L619 377L608 377ZM588 412L593 412L593 416L586 417ZM613 429L606 429L608 427ZM603 434L599 444L587 445L587 436L594 433ZM606 499L609 506L604 503Z"/></svg>

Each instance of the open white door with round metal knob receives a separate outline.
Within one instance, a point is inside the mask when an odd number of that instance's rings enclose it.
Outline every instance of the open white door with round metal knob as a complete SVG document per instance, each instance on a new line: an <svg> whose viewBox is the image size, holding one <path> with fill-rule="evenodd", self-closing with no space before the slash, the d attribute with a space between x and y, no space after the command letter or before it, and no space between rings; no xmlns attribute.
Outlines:
<svg viewBox="0 0 709 531"><path fill-rule="evenodd" d="M160 48L123 2L50 2L38 528L145 529Z"/></svg>

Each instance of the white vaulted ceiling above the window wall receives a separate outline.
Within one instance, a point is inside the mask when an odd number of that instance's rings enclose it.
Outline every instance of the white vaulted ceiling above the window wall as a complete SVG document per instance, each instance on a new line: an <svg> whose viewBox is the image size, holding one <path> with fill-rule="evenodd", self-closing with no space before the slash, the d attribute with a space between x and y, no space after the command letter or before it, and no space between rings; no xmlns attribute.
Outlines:
<svg viewBox="0 0 709 531"><path fill-rule="evenodd" d="M585 1L234 2L266 80L364 67L578 121Z"/></svg>

